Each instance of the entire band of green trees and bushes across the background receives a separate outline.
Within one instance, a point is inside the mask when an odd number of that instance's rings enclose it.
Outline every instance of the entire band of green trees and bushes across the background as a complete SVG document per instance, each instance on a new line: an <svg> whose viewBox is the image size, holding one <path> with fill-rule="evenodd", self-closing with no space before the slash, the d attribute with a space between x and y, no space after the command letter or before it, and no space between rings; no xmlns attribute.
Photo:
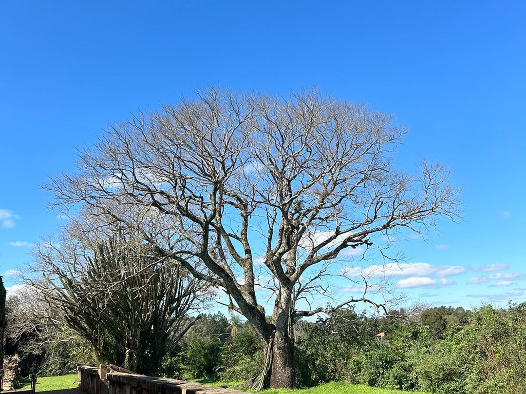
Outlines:
<svg viewBox="0 0 526 394"><path fill-rule="evenodd" d="M32 366L57 374L73 371L77 363L108 362L66 325L55 325L51 333L42 331L43 324L28 330L24 320L14 329L27 315L26 301L23 294L7 301L6 353L19 354L23 373ZM345 381L441 394L524 392L525 309L526 304L400 309L379 318L348 307L316 321L299 320L297 385ZM257 376L263 360L249 322L218 312L201 314L159 362L143 358L139 368L156 376L239 383Z"/></svg>

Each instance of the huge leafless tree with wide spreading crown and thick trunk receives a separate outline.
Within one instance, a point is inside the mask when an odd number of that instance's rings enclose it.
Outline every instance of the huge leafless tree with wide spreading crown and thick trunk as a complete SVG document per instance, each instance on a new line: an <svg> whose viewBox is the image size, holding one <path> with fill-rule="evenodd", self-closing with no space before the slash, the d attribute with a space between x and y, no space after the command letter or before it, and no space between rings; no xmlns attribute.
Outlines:
<svg viewBox="0 0 526 394"><path fill-rule="evenodd" d="M323 97L210 88L196 100L109 127L80 154L78 171L50 181L55 205L137 231L158 253L222 288L254 327L265 354L256 388L293 387L294 318L330 264L376 234L421 232L458 214L458 190L441 165L395 167L406 130L393 116ZM268 286L258 275L263 267ZM267 278L268 279L268 278ZM257 289L270 287L270 321Z"/></svg>

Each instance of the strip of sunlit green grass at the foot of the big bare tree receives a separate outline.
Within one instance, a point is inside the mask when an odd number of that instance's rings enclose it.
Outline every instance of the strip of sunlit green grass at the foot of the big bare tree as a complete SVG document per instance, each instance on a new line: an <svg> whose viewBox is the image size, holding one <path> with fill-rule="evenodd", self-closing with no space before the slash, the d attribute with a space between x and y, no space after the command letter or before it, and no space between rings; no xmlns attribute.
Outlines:
<svg viewBox="0 0 526 394"><path fill-rule="evenodd" d="M203 385L209 386L235 386L239 385L241 382L210 382L207 380L198 380ZM254 390L242 391L248 392L257 392ZM326 383L325 385L320 385L316 387L311 387L310 389L270 389L265 391L259 391L264 394L402 394L402 393L412 393L412 394L427 394L422 391L400 391L400 390L388 390L388 389L379 389L376 387L361 386L361 385L350 385L349 383L342 382L332 382Z"/></svg>

